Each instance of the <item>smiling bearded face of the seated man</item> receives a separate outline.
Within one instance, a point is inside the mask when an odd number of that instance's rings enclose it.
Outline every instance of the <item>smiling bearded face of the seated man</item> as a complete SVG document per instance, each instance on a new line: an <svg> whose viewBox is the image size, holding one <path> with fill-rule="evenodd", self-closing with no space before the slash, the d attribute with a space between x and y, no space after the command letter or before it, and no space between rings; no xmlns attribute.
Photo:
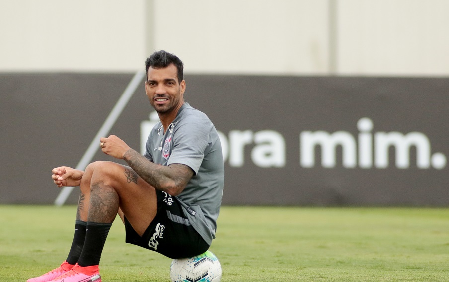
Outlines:
<svg viewBox="0 0 449 282"><path fill-rule="evenodd" d="M174 64L166 68L149 68L145 93L150 104L160 114L177 111L184 102L185 81L178 82L178 70Z"/></svg>

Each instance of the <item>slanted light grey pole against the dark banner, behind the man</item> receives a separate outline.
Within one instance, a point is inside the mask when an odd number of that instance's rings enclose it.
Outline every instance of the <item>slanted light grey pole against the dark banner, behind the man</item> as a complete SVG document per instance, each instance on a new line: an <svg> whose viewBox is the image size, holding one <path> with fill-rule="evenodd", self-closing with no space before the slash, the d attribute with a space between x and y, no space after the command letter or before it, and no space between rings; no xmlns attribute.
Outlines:
<svg viewBox="0 0 449 282"><path fill-rule="evenodd" d="M112 111L109 113L109 116L104 121L103 125L98 130L97 135L93 138L92 142L90 143L90 146L88 147L87 151L82 156L81 160L79 161L78 165L76 166L76 169L78 170L84 170L87 165L92 160L93 156L95 156L97 150L100 148L100 138L105 137L109 131L111 130L112 126L114 126L115 122L117 121L118 117L122 113L125 106L128 104L130 98L133 96L133 94L136 92L137 87L142 82L142 79L145 77L145 72L137 72L134 77L131 79L130 83L126 87L125 91L115 104ZM59 193L58 197L55 200L55 205L61 206L63 205L67 198L69 197L70 193L72 192L73 187L63 187L61 192Z"/></svg>

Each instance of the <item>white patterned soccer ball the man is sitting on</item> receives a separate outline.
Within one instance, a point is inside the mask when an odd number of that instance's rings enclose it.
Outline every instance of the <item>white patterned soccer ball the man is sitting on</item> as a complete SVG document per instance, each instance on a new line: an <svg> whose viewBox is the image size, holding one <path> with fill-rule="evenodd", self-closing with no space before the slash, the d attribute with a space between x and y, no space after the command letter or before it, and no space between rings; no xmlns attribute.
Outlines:
<svg viewBox="0 0 449 282"><path fill-rule="evenodd" d="M171 282L219 282L222 266L211 252L186 258L174 259L170 265Z"/></svg>

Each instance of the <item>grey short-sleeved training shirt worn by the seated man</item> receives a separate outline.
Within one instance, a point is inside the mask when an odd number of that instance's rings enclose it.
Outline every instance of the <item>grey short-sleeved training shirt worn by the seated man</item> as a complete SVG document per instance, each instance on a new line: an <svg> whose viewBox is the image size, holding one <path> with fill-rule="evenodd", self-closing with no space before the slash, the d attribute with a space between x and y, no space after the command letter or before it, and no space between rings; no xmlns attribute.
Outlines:
<svg viewBox="0 0 449 282"><path fill-rule="evenodd" d="M225 181L222 147L214 124L206 114L184 103L165 133L160 122L154 126L144 156L156 164L183 164L195 172L177 198L189 223L210 245Z"/></svg>

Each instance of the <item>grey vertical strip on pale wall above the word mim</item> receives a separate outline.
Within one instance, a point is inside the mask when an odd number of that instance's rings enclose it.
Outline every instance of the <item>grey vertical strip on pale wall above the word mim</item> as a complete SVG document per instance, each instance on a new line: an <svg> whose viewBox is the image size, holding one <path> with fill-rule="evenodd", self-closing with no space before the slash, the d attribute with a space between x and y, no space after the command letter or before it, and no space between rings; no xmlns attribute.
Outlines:
<svg viewBox="0 0 449 282"><path fill-rule="evenodd" d="M338 71L338 18L337 1L329 0L329 74L336 75Z"/></svg>

